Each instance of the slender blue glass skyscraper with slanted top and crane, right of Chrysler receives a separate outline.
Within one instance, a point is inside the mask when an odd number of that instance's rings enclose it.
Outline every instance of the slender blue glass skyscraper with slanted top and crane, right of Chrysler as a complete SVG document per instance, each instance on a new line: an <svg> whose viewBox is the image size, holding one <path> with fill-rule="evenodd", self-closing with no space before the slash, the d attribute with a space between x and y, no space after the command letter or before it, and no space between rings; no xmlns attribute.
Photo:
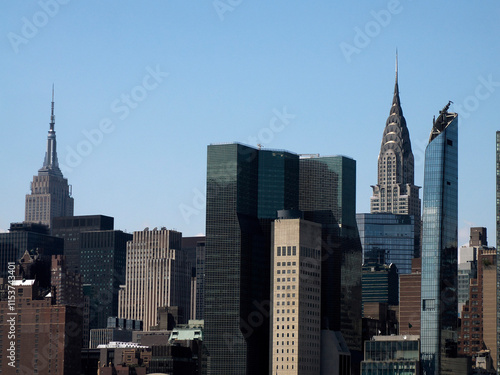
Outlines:
<svg viewBox="0 0 500 375"><path fill-rule="evenodd" d="M421 353L425 375L449 369L457 352L458 117L433 120L425 150Z"/></svg>

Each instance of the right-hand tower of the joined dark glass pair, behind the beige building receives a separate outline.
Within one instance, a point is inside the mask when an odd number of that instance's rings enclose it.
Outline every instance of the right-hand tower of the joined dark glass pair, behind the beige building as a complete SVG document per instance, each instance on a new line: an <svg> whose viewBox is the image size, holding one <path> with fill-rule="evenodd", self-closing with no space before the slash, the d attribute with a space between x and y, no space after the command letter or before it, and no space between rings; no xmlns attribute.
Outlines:
<svg viewBox="0 0 500 375"><path fill-rule="evenodd" d="M356 161L344 156L300 160L304 219L322 224L321 328L341 331L362 351L361 261L356 224ZM356 362L356 353L353 361Z"/></svg>

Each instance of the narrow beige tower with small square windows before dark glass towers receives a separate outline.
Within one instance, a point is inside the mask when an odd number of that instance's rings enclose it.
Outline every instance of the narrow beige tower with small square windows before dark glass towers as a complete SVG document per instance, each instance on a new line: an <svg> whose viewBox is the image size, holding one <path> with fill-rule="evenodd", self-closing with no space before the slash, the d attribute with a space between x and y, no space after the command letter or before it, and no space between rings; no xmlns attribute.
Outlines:
<svg viewBox="0 0 500 375"><path fill-rule="evenodd" d="M275 220L272 251L271 373L319 374L321 225Z"/></svg>

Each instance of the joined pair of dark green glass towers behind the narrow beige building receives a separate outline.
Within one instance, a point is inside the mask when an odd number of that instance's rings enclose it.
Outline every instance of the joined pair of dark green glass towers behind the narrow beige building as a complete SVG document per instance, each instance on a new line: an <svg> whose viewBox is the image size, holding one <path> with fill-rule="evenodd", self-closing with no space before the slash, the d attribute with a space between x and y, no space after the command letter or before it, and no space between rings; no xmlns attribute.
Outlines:
<svg viewBox="0 0 500 375"><path fill-rule="evenodd" d="M361 354L356 162L300 159L242 144L208 147L205 344L209 374L269 371L271 223L278 210L321 224L321 329ZM323 303L324 301L324 303ZM358 361L359 362L359 361Z"/></svg>

